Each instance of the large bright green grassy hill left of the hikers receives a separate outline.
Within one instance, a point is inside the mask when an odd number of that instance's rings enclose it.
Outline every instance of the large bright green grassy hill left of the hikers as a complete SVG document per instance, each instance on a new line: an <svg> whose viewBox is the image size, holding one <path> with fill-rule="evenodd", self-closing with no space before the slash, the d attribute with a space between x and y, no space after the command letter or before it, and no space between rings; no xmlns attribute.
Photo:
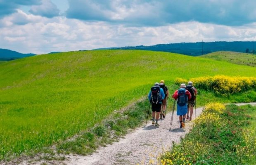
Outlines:
<svg viewBox="0 0 256 165"><path fill-rule="evenodd" d="M256 68L141 50L65 52L1 63L0 160L93 127L147 95L154 82L217 74L255 76Z"/></svg>

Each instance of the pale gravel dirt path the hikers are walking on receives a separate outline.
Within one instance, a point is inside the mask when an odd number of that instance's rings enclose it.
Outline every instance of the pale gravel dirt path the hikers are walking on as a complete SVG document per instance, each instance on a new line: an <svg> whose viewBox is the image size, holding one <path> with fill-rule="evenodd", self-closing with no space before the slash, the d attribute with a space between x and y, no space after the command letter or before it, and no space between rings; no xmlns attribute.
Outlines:
<svg viewBox="0 0 256 165"><path fill-rule="evenodd" d="M238 106L256 103L239 103ZM139 127L130 134L127 134L119 142L114 142L106 147L100 147L95 153L89 156L68 155L62 162L52 162L55 165L148 165L157 164L156 159L161 153L170 150L172 141L178 143L180 137L184 137L191 129L192 122L187 121L186 127L179 128L180 123L176 111L173 115L173 125L171 130L171 113L166 114L166 119L162 120L161 126L152 126L152 121L148 120L147 126ZM196 115L200 115L202 108L197 108ZM150 119L150 118L149 118ZM194 119L194 114L193 114ZM159 120L160 124L160 120ZM32 163L41 165L43 161ZM49 163L49 161L48 161ZM21 163L20 165L25 165Z"/></svg>

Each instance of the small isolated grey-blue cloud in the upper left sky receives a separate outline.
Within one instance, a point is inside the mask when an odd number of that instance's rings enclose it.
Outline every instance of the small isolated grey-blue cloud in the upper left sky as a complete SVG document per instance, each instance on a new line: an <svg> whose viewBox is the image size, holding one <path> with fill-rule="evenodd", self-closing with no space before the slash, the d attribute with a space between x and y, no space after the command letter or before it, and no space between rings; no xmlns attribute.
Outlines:
<svg viewBox="0 0 256 165"><path fill-rule="evenodd" d="M31 14L52 18L59 16L59 9L51 0L42 0L41 5L33 5L29 10Z"/></svg>

